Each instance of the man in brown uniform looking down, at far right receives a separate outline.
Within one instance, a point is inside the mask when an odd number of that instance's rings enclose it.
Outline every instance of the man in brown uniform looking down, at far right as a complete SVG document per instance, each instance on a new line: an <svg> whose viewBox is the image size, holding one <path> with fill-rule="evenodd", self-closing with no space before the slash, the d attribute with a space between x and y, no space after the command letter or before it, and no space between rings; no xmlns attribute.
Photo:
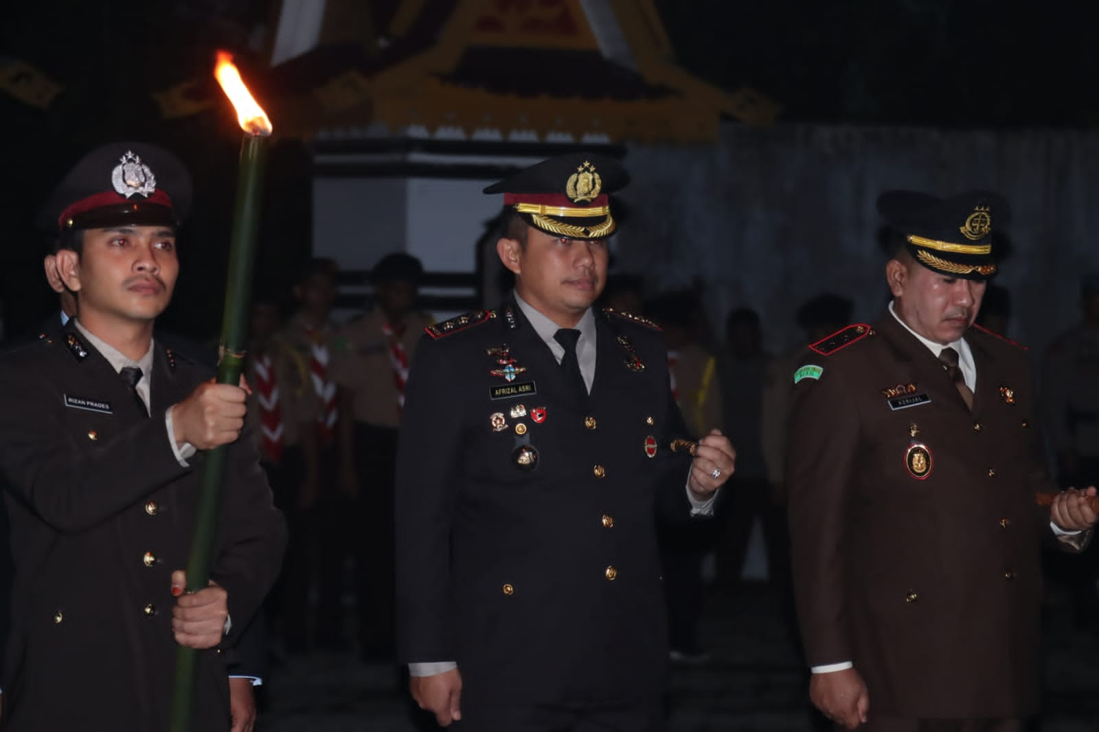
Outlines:
<svg viewBox="0 0 1099 732"><path fill-rule="evenodd" d="M1078 551L1095 488L1056 491L1023 348L973 326L1004 201L891 191L878 210L897 232L888 311L790 375L810 696L848 729L1021 730L1039 700L1042 540Z"/></svg>

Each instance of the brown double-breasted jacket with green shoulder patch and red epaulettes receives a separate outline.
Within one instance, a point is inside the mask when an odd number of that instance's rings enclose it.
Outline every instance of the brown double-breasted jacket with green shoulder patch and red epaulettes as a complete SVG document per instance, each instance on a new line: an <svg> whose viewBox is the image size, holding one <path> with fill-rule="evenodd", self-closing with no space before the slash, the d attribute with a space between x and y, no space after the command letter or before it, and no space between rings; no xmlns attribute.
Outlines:
<svg viewBox="0 0 1099 732"><path fill-rule="evenodd" d="M872 714L1018 718L1037 705L1051 529L1035 491L1054 488L1023 350L978 329L965 340L972 412L889 313L822 341L831 355L809 351L797 371L787 478L806 654L854 662Z"/></svg>

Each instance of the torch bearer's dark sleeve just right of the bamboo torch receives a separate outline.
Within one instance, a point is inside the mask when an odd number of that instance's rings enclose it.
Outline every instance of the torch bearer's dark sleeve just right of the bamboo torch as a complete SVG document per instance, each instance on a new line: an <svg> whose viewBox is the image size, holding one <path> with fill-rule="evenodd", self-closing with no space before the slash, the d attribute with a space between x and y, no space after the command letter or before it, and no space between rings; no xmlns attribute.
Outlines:
<svg viewBox="0 0 1099 732"><path fill-rule="evenodd" d="M225 644L234 645L278 576L286 548L286 522L275 508L259 466L255 436L248 428L232 444L229 457L221 496L220 541L210 577L229 594L233 626Z"/></svg>

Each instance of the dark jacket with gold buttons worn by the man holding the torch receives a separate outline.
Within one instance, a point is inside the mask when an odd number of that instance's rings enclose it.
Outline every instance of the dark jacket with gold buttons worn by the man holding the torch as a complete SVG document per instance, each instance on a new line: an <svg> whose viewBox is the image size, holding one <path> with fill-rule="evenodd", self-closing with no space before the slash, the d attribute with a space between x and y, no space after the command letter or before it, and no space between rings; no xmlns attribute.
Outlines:
<svg viewBox="0 0 1099 732"><path fill-rule="evenodd" d="M201 454L176 459L165 412L211 371L155 348L152 415L73 325L0 357L0 468L16 576L5 730L167 729ZM211 578L231 648L278 572L285 526L251 440L230 448ZM226 662L197 656L195 729L229 729Z"/></svg>

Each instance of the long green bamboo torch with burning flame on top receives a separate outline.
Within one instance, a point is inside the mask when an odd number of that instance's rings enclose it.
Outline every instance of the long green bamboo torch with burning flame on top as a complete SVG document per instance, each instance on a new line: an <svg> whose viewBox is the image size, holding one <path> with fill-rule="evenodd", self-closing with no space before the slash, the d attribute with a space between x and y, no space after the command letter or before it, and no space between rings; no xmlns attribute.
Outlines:
<svg viewBox="0 0 1099 732"><path fill-rule="evenodd" d="M256 254L256 230L259 225L260 180L271 123L244 86L240 71L233 65L232 56L226 53L218 54L214 77L236 109L236 119L244 130L236 181L233 235L229 251L225 311L221 326L221 358L218 363L218 382L238 384L244 369L247 306ZM218 524L219 496L225 476L225 446L221 446L209 451L202 462L195 532L191 537L191 553L187 561L188 592L206 587L209 580L210 554L213 551ZM171 697L171 732L190 732L193 687L195 650L179 646L176 656L176 685Z"/></svg>

